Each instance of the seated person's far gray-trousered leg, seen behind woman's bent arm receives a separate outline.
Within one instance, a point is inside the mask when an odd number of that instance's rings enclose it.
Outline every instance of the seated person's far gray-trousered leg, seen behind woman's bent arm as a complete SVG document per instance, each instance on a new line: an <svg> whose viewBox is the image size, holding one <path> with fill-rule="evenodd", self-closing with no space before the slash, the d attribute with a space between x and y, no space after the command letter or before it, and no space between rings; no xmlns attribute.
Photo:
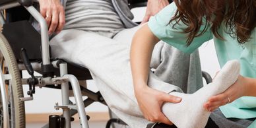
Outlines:
<svg viewBox="0 0 256 128"><path fill-rule="evenodd" d="M141 26L122 30L113 40L131 46L133 35ZM165 42L154 47L150 67L164 82L179 86L185 93L193 93L203 86L199 52L183 53ZM177 75L179 74L179 75Z"/></svg>

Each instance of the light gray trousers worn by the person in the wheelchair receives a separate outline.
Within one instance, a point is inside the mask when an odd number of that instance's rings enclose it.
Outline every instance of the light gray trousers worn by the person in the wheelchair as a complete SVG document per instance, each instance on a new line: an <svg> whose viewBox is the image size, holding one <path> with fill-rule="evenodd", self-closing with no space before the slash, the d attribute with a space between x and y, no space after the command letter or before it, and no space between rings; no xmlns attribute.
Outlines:
<svg viewBox="0 0 256 128"><path fill-rule="evenodd" d="M135 128L152 123L144 119L139 109L131 76L129 52L133 35L139 27L122 30L113 38L97 32L63 30L50 42L53 57L90 70L112 112ZM156 69L148 77L150 88L166 93L191 93L203 86L198 51L187 55L159 42L154 48L150 66Z"/></svg>

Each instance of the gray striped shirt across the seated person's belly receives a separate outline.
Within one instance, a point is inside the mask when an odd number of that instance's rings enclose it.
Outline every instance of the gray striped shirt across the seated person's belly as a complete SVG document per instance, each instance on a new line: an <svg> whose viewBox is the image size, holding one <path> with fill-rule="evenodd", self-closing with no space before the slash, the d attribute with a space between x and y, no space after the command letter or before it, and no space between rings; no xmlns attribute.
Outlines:
<svg viewBox="0 0 256 128"><path fill-rule="evenodd" d="M111 0L69 0L66 3L65 19L63 30L117 33L125 28Z"/></svg>

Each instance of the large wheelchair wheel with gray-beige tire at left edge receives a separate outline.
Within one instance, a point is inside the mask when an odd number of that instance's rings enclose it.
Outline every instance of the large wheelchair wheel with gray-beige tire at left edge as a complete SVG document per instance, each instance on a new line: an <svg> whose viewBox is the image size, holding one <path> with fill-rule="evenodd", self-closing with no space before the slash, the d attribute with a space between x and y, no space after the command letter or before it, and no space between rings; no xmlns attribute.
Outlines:
<svg viewBox="0 0 256 128"><path fill-rule="evenodd" d="M18 70L15 55L5 36L0 32L0 65L3 74L11 75L11 80L6 80L6 92L9 110L9 120L11 128L25 127L24 102L19 98L23 97L20 71ZM0 101L0 127L3 127L2 100Z"/></svg>

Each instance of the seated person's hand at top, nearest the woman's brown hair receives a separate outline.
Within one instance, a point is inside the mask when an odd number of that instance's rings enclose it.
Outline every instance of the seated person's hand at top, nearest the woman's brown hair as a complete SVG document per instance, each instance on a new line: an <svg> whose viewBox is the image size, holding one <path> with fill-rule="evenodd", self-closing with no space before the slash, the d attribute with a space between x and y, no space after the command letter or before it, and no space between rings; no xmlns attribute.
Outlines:
<svg viewBox="0 0 256 128"><path fill-rule="evenodd" d="M141 24L148 22L150 16L156 15L156 13L158 13L169 4L170 3L168 2L168 0L148 0L148 3L146 5L146 14Z"/></svg>

